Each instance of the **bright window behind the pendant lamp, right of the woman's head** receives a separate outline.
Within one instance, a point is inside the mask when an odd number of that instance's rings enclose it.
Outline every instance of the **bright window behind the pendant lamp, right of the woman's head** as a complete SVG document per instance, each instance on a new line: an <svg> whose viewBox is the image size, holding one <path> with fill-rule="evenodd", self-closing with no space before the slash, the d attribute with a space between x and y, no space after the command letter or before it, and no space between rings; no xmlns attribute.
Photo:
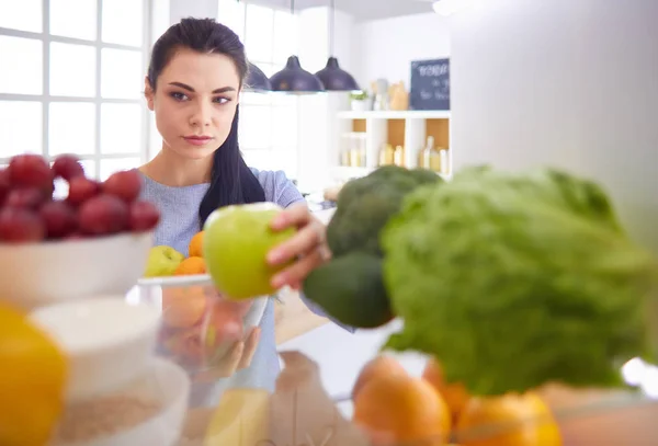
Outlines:
<svg viewBox="0 0 658 446"><path fill-rule="evenodd" d="M290 10L236 0L218 0L217 21L245 43L247 57L270 77L297 53L298 18ZM243 92L240 99L240 149L250 167L283 170L297 176L297 98Z"/></svg>

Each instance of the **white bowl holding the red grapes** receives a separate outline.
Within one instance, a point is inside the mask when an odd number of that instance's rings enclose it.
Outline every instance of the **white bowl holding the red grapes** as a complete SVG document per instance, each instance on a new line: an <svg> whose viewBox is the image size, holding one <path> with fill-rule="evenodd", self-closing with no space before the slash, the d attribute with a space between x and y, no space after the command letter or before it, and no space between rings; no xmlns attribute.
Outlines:
<svg viewBox="0 0 658 446"><path fill-rule="evenodd" d="M146 270L152 232L0 244L0 299L31 310L94 295L125 295Z"/></svg>

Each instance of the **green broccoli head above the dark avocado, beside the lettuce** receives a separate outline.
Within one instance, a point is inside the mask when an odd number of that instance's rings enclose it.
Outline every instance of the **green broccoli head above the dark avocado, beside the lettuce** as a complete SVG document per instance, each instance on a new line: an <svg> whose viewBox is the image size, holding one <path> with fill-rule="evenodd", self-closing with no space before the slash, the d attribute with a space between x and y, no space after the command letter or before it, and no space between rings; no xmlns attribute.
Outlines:
<svg viewBox="0 0 658 446"><path fill-rule="evenodd" d="M379 231L400 209L402 198L416 187L440 183L427 170L382 167L366 176L348 182L338 195L336 213L327 226L327 243L334 256L351 251L382 254Z"/></svg>

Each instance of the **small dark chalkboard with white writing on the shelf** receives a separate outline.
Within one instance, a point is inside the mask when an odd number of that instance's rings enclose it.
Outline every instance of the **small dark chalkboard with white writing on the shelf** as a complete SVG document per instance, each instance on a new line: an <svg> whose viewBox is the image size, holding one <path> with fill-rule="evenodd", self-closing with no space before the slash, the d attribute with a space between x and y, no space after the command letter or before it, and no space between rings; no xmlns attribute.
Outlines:
<svg viewBox="0 0 658 446"><path fill-rule="evenodd" d="M411 110L450 110L450 59L411 62Z"/></svg>

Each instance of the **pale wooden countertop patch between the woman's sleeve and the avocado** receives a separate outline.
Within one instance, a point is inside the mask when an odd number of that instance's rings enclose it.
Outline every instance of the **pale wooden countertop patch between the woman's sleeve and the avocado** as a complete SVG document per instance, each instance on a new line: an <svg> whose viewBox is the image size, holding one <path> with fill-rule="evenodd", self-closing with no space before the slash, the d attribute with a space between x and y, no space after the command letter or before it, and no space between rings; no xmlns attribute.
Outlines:
<svg viewBox="0 0 658 446"><path fill-rule="evenodd" d="M274 333L276 345L307 333L329 322L308 309L296 291L281 293L283 304L274 307Z"/></svg>

